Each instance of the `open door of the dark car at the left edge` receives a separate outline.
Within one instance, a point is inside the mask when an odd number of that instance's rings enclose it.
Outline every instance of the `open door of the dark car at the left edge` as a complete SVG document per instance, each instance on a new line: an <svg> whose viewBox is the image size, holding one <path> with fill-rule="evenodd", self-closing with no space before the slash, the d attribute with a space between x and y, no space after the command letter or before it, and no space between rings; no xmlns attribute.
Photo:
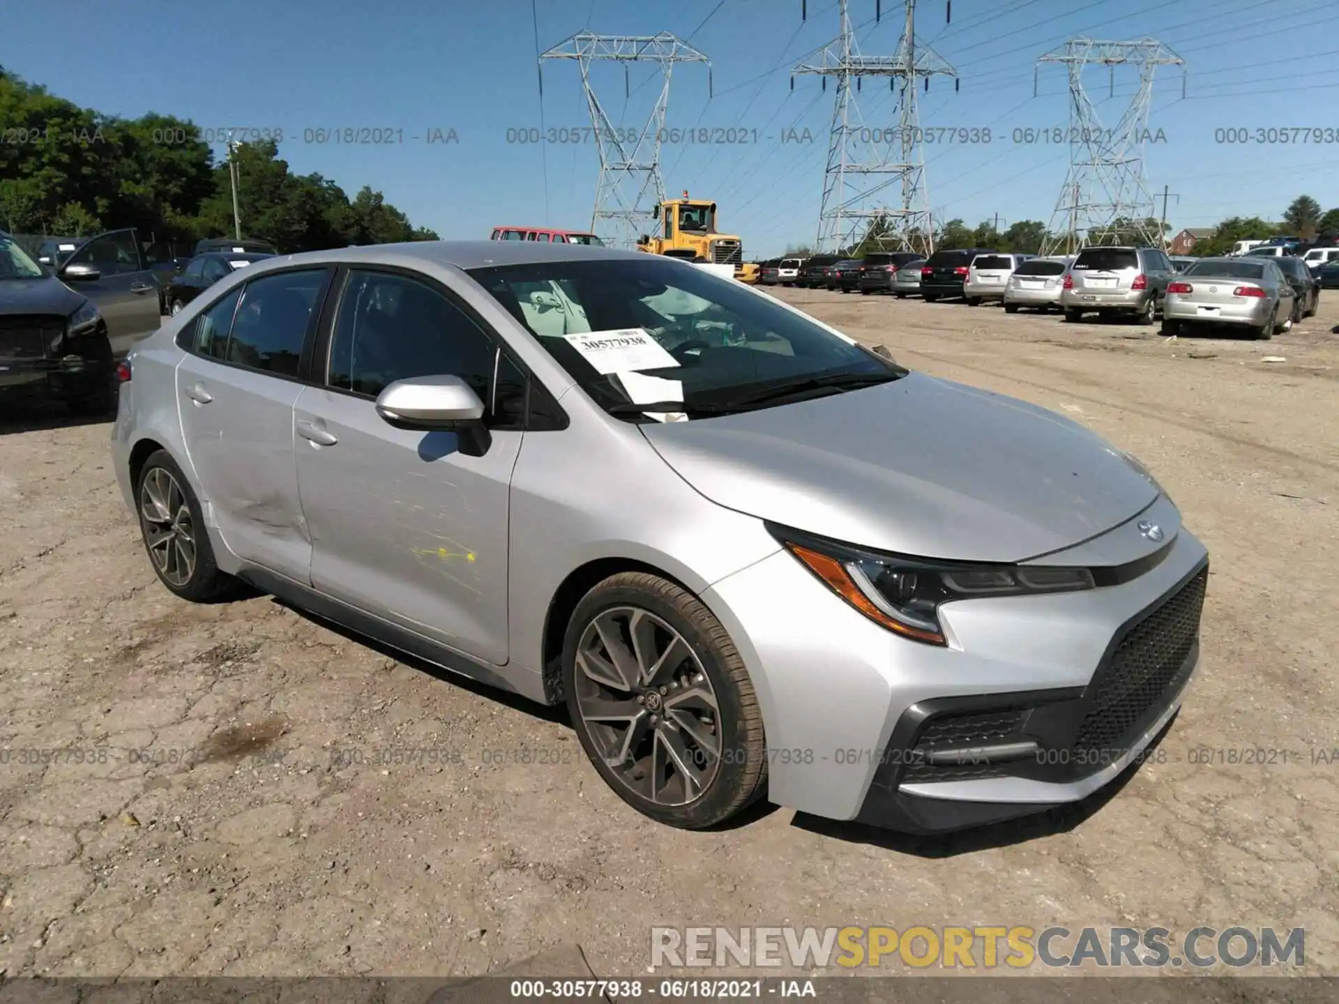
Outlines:
<svg viewBox="0 0 1339 1004"><path fill-rule="evenodd" d="M145 264L134 230L108 230L80 246L63 268L92 265L95 280L66 280L95 304L107 324L115 356L123 356L142 337L158 331L162 312L158 282Z"/></svg>

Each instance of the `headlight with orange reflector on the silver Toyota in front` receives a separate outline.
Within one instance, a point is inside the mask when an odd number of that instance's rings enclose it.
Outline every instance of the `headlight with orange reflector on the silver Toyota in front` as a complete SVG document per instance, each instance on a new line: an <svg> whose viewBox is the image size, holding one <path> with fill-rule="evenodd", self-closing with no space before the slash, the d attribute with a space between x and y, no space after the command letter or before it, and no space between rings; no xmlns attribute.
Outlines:
<svg viewBox="0 0 1339 1004"><path fill-rule="evenodd" d="M957 600L1093 589L1086 568L972 565L877 554L769 526L829 589L902 637L947 645L939 608Z"/></svg>

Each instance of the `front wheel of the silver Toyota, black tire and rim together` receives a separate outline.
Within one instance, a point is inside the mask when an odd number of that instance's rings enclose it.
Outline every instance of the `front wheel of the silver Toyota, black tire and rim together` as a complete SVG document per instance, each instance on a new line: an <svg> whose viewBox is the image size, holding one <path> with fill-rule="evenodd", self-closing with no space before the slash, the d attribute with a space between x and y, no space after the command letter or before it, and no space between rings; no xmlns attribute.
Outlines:
<svg viewBox="0 0 1339 1004"><path fill-rule="evenodd" d="M720 621L680 586L643 572L596 585L568 624L562 680L596 772L641 814L700 830L762 795L753 681Z"/></svg>

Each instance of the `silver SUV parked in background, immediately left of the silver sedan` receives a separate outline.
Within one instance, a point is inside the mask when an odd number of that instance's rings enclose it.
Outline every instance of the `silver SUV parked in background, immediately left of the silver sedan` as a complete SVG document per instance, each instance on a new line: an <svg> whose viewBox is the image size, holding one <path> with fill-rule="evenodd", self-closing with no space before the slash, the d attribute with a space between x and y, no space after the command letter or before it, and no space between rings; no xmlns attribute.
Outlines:
<svg viewBox="0 0 1339 1004"><path fill-rule="evenodd" d="M1083 248L1065 273L1065 320L1119 313L1153 324L1174 274L1168 256L1154 248Z"/></svg>

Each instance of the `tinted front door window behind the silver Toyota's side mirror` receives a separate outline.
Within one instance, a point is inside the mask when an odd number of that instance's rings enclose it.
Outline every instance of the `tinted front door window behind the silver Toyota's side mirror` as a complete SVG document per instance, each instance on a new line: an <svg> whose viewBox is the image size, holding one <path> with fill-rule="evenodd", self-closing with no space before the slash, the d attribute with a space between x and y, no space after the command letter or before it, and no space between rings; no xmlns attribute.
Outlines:
<svg viewBox="0 0 1339 1004"><path fill-rule="evenodd" d="M489 400L497 347L439 290L390 272L351 270L331 337L331 387L375 398L415 376L459 376Z"/></svg>

